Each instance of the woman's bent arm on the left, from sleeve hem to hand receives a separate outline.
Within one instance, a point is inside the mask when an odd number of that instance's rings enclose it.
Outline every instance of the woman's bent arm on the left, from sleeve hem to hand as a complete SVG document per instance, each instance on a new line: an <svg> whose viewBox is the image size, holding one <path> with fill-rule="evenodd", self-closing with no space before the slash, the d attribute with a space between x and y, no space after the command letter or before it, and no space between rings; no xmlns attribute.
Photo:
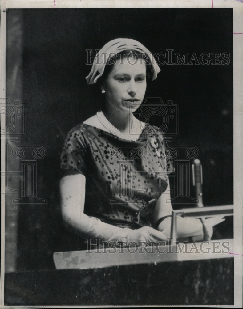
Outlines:
<svg viewBox="0 0 243 309"><path fill-rule="evenodd" d="M60 180L60 195L64 222L86 237L101 238L103 241L116 243L135 241L138 245L141 241L166 240L162 232L149 226L138 230L120 228L84 214L85 176L82 174L64 176Z"/></svg>

